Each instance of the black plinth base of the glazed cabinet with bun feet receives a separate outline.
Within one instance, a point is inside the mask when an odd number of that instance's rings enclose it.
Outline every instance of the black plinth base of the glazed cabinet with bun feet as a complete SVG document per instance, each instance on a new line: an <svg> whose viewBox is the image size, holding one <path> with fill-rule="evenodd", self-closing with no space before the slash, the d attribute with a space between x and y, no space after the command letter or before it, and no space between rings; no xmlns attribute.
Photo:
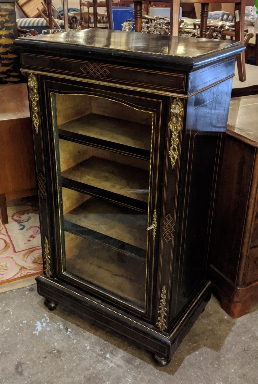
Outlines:
<svg viewBox="0 0 258 384"><path fill-rule="evenodd" d="M211 292L210 282L206 281L199 295L189 303L188 309L182 313L177 323L173 324L170 332L167 333L57 279L39 275L36 281L38 293L45 298L45 305L50 310L54 310L56 305L61 304L94 319L95 323L104 324L116 333L130 338L133 344L148 349L153 353L154 361L160 366L169 363L178 344L209 301Z"/></svg>

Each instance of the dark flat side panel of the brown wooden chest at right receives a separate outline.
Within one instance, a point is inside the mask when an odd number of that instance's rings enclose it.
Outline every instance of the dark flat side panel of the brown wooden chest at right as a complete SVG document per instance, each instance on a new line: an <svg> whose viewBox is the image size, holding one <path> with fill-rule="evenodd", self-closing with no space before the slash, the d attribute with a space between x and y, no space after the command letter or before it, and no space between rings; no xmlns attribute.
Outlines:
<svg viewBox="0 0 258 384"><path fill-rule="evenodd" d="M233 283L240 263L254 154L254 147L226 137L210 262Z"/></svg>

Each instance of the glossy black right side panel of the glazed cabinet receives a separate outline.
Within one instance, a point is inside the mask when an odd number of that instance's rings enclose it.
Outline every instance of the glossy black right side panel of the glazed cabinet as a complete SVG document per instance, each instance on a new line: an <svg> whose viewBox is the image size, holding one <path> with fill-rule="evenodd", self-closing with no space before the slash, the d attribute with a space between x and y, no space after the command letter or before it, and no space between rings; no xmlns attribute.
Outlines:
<svg viewBox="0 0 258 384"><path fill-rule="evenodd" d="M210 223L227 127L232 80L188 99L177 197L170 321L186 308L206 277Z"/></svg>

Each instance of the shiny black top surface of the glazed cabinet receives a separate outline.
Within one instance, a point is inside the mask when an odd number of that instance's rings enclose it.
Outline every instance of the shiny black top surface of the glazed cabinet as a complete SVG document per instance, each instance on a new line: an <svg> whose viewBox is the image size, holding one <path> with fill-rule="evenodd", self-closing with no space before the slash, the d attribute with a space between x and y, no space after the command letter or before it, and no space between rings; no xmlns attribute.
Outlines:
<svg viewBox="0 0 258 384"><path fill-rule="evenodd" d="M167 56L186 59L201 58L211 53L222 56L225 51L230 50L230 53L233 53L243 49L242 44L235 41L161 36L97 28L20 38L15 41L15 45L35 48L39 46L43 48L46 44L49 48L54 45L57 49L64 48L62 44L65 44L67 49L80 51L89 51L90 48L94 51L101 50L102 53L112 50L123 55L128 52L134 56L145 54L152 58L157 55L159 58Z"/></svg>

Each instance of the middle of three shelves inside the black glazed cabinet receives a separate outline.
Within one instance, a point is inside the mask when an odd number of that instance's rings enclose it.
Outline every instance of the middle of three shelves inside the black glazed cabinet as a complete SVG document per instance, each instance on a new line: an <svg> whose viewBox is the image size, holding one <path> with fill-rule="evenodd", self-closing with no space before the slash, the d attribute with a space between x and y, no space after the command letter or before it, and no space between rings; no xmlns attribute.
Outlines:
<svg viewBox="0 0 258 384"><path fill-rule="evenodd" d="M61 173L64 187L148 210L148 171L91 156Z"/></svg>

